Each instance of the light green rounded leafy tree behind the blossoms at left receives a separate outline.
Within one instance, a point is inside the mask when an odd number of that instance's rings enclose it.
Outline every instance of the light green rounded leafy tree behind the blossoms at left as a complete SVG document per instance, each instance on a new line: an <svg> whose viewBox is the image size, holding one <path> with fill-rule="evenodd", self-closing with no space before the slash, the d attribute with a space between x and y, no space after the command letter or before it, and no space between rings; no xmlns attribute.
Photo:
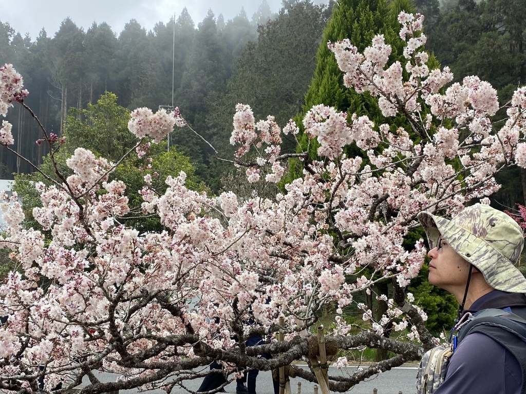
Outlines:
<svg viewBox="0 0 526 394"><path fill-rule="evenodd" d="M35 182L52 184L52 180L60 183L56 170L65 177L72 174L66 165L69 158L77 147L88 149L97 157L117 162L136 144L136 138L128 130L129 111L117 105L117 97L106 92L96 104L89 104L87 109L78 110L73 108L67 118L64 127L66 142L54 151L55 164L48 154L39 169L42 173L20 174L15 178L13 190L23 200L25 214L24 225L39 228L39 224L33 219L33 208L40 205L39 194L35 190ZM115 171L110 174L110 180L119 179L127 185L126 195L128 197L130 214L123 217L130 225L139 231L157 231L160 228L158 217L156 220L145 219L141 215L141 198L138 193L145 185L144 177L150 174L155 190L159 193L166 191L167 185L161 180L168 175L177 177L181 171L187 175L186 185L188 188L198 191L206 191L206 185L195 175L195 167L189 158L172 146L167 150L167 143L152 144L148 155L139 159L135 152L128 155L120 162Z"/></svg>

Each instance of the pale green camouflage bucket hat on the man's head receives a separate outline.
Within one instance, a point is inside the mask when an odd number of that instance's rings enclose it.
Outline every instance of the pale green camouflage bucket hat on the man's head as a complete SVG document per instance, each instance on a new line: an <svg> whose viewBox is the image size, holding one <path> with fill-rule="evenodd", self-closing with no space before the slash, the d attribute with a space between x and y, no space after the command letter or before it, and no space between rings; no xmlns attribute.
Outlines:
<svg viewBox="0 0 526 394"><path fill-rule="evenodd" d="M489 205L468 206L453 219L420 212L418 220L426 230L429 247L439 236L454 251L473 264L494 289L526 293L526 279L515 267L524 244L521 227L507 214Z"/></svg>

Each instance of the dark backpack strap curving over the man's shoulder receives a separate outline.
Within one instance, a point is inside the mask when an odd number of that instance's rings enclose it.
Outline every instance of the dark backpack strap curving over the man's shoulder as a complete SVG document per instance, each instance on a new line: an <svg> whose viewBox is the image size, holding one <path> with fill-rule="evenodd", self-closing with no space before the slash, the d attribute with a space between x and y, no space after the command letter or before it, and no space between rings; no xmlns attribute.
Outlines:
<svg viewBox="0 0 526 394"><path fill-rule="evenodd" d="M526 319L502 309L483 309L469 318L458 340L472 333L487 335L497 341L519 361L522 370L522 393L526 394Z"/></svg>

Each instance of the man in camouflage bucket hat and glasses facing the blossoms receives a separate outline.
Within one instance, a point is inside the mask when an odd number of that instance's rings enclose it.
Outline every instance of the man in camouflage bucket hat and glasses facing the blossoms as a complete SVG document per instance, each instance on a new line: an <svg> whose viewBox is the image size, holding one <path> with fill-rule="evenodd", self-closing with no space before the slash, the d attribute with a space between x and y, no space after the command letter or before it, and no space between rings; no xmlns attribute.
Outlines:
<svg viewBox="0 0 526 394"><path fill-rule="evenodd" d="M524 237L510 216L489 205L476 204L452 220L429 212L421 212L418 220L429 241L429 282L457 298L459 319L488 308L526 318L526 279L515 267ZM511 338L516 342L513 346L523 346L526 354L526 343L517 336ZM460 341L444 382L434 392L522 393L525 371L499 341L474 332Z"/></svg>

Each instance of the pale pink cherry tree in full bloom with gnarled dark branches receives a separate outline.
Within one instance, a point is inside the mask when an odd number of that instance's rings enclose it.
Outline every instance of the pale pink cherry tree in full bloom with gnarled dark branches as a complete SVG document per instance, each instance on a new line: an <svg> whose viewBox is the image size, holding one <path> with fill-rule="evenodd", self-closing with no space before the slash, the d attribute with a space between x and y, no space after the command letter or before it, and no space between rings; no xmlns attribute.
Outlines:
<svg viewBox="0 0 526 394"><path fill-rule="evenodd" d="M0 329L0 388L48 392L62 383L60 393L87 377L82 393L170 392L205 376L214 360L231 381L249 368L311 360L309 333L329 307L335 314L326 340L333 348L395 354L343 379L329 377L331 390L346 391L436 344L425 313L405 292L426 247L423 240L409 250L402 243L420 211L454 214L473 199L488 202L499 188L497 171L526 167L526 88L515 91L508 119L496 130L495 90L476 76L448 86L448 68L426 65L423 17L401 13L399 20L403 64L388 64L391 48L381 35L363 53L349 40L329 47L346 86L378 97L383 115L401 113L411 130L315 106L303 120L318 146L319 160L310 161L307 152L281 152L282 134L299 132L293 122L280 128L271 116L256 121L248 106L236 107L230 142L238 150L230 160L249 182L280 182L287 159L304 163L302 177L271 199L208 196L189 190L184 173L168 177L166 192L157 193L146 175L141 209L157 215L164 231L142 234L122 223L130 210L126 185L108 180L118 163L82 148L67 161L72 175L57 170L60 182L37 185L42 206L33 215L42 230L26 229L16 194L2 193L8 230L0 242L18 269L0 286L0 315L8 316ZM38 122L26 96L13 67L0 68L0 115L17 103ZM138 142L128 154L147 154L148 143L175 125L186 127L178 111L135 110L129 130ZM61 140L42 132L53 154ZM12 151L6 121L0 143ZM363 155L347 157L349 144ZM355 295L380 281L392 281L395 296L385 300L387 313L369 324L371 312ZM351 305L363 309L363 325L347 322ZM388 326L398 335L382 336ZM267 344L246 347L255 334ZM335 365L346 362L340 357ZM122 378L103 383L96 371ZM310 371L297 375L316 379Z"/></svg>

